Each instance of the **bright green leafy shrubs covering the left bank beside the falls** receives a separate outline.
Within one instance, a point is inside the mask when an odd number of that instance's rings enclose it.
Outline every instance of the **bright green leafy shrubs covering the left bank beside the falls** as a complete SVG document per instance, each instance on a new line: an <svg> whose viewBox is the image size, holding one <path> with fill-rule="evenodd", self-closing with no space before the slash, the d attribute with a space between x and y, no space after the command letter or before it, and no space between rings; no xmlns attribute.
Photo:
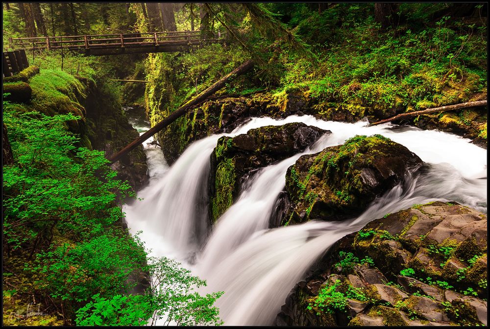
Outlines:
<svg viewBox="0 0 490 329"><path fill-rule="evenodd" d="M116 201L134 193L115 179L104 152L76 146L66 128L79 117L4 108L16 161L3 167L4 241L9 254L30 253L23 275L35 278L36 294L49 296L65 324L77 309L79 325L143 325L168 314L182 325L222 323L213 306L222 293L200 296L194 289L205 281L174 261L144 266L138 237L119 227ZM145 272L154 279L148 294L122 296L134 285L129 275ZM6 277L25 290L25 281Z"/></svg>

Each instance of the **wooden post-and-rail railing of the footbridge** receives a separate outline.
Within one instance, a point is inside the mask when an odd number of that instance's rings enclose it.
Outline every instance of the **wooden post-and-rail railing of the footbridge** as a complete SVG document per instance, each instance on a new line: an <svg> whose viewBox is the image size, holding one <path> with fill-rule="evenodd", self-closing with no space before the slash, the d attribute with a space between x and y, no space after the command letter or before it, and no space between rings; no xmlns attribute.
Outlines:
<svg viewBox="0 0 490 329"><path fill-rule="evenodd" d="M95 48L124 48L139 46L185 45L201 41L218 40L221 35L211 38L203 37L200 31L167 31L150 33L120 33L69 35L54 37L10 38L10 49L95 49Z"/></svg>

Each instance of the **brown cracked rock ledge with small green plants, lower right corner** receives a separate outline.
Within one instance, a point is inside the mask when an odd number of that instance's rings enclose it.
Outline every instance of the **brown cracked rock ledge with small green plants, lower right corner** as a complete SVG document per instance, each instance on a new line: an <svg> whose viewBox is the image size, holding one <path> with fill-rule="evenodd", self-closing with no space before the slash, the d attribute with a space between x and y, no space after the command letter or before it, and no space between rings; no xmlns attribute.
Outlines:
<svg viewBox="0 0 490 329"><path fill-rule="evenodd" d="M486 223L485 214L455 202L416 205L340 239L308 281L333 278L329 273L338 270L335 264L340 261L340 251L358 259L370 257L374 266L357 264L347 272L343 269L342 284L336 288L343 293L349 285L352 289L360 286L367 299L355 302L367 303L366 307L358 311L351 305L347 312L336 313L335 325L486 325L487 302L482 299L488 296L487 238L479 233ZM400 268L406 275L400 275ZM323 282L323 286L331 284L331 279ZM309 296L313 302L316 298L306 285L297 287L294 294ZM302 312L299 305L297 312ZM352 319L348 321L345 314Z"/></svg>

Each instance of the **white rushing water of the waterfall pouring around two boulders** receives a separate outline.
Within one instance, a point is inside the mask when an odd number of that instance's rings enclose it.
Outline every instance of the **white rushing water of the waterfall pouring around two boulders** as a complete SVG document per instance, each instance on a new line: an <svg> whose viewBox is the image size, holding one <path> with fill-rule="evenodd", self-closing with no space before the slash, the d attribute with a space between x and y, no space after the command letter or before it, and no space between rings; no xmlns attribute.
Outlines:
<svg viewBox="0 0 490 329"><path fill-rule="evenodd" d="M311 149L254 175L212 232L207 232L209 159L219 137L290 122L303 122L332 134L320 138ZM278 194L285 186L286 170L300 155L343 144L354 135L373 134L406 146L431 163L431 168L394 187L357 218L267 229ZM456 201L487 212L486 150L440 131L391 124L366 127L365 122L325 122L312 116L254 118L230 134L191 144L171 168L162 158L150 156L153 151L147 150L150 184L138 193L144 200L124 208L128 226L133 232L143 231L141 237L153 255L174 257L206 279L204 291L225 292L216 303L225 325L272 324L294 284L319 256L344 235L389 212L435 200Z"/></svg>

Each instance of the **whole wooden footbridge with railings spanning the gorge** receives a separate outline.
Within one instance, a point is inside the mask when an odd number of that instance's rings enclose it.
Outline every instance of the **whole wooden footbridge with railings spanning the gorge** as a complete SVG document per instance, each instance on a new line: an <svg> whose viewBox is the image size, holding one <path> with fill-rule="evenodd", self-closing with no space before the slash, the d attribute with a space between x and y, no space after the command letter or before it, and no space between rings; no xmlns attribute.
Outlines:
<svg viewBox="0 0 490 329"><path fill-rule="evenodd" d="M222 43L220 33L204 36L201 31L69 35L34 38L9 38L9 48L71 50L92 56L148 52L189 51L203 44Z"/></svg>

